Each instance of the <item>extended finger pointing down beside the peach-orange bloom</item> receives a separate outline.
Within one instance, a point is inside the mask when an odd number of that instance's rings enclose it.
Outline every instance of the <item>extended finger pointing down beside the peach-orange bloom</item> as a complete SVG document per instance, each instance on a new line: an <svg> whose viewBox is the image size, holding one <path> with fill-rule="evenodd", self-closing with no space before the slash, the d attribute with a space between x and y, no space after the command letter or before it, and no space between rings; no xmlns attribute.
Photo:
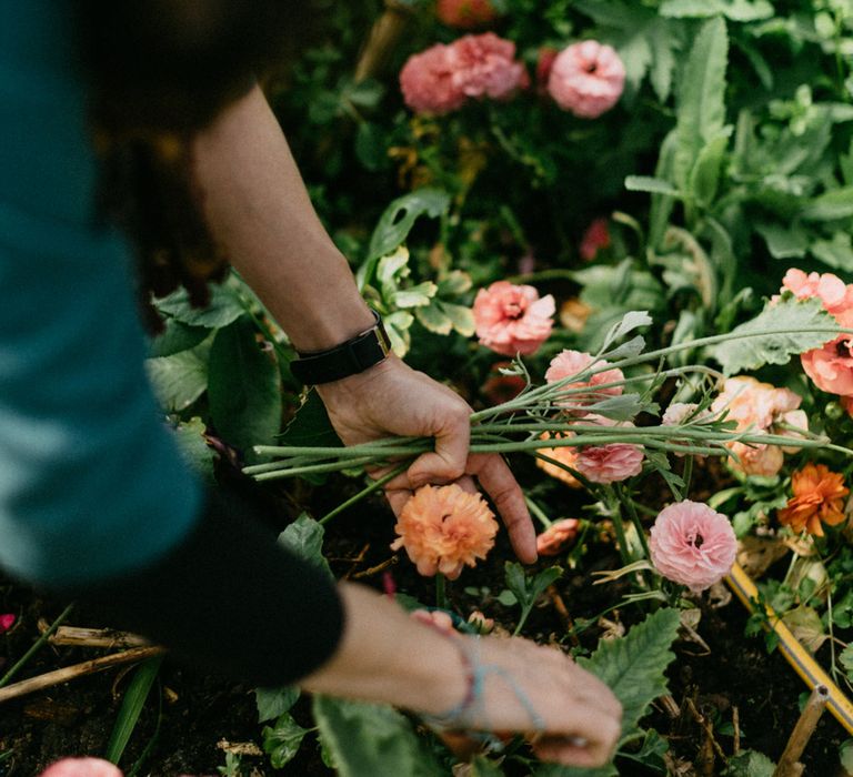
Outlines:
<svg viewBox="0 0 853 777"><path fill-rule="evenodd" d="M536 531L530 519L521 486L506 462L496 453L476 453L469 457L466 472L476 476L483 491L492 498L519 561L524 564L535 562Z"/></svg>

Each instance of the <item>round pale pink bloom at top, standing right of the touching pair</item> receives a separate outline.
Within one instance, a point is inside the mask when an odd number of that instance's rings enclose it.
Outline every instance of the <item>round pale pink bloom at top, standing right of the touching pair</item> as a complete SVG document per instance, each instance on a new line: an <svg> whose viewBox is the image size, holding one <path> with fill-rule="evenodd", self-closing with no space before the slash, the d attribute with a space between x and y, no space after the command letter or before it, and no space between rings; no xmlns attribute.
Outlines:
<svg viewBox="0 0 853 777"><path fill-rule="evenodd" d="M548 91L560 108L581 119L596 119L619 102L625 65L610 46L595 40L572 43L554 60Z"/></svg>

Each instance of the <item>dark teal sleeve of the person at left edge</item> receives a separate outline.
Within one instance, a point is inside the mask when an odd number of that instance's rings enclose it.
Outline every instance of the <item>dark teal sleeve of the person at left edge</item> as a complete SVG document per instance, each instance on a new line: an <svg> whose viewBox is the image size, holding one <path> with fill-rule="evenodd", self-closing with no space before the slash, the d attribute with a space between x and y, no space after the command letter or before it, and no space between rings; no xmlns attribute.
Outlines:
<svg viewBox="0 0 853 777"><path fill-rule="evenodd" d="M0 565L94 583L193 528L143 370L127 246L96 225L69 3L0 4Z"/></svg>

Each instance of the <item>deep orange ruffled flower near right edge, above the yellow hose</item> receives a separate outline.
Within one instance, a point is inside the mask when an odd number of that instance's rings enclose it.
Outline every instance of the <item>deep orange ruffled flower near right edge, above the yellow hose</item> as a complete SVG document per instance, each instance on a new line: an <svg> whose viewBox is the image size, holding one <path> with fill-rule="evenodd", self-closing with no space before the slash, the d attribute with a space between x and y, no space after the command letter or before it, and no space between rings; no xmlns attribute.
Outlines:
<svg viewBox="0 0 853 777"><path fill-rule="evenodd" d="M791 486L794 496L779 511L779 522L784 526L797 534L805 529L822 537L822 523L835 526L844 521L843 501L850 488L842 475L823 464L806 464L791 475Z"/></svg>

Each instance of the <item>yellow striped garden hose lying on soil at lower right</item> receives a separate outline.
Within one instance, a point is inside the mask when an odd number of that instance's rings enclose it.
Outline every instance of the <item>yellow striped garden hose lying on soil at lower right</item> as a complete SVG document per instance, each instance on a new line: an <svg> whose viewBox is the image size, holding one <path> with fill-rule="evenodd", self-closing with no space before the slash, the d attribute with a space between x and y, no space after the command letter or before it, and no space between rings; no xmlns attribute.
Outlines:
<svg viewBox="0 0 853 777"><path fill-rule="evenodd" d="M746 609L751 613L754 612L759 589L740 564L735 564L732 567L725 582ZM775 632L779 637L779 649L787 659L787 663L794 667L794 672L803 678L809 688L814 689L817 685L825 685L829 688L830 700L826 703L826 708L850 734L853 734L853 704L842 693L841 688L832 682L830 676L817 666L814 658L800 644L800 640L791 633L791 629L782 623L782 619L773 609L765 606L764 614L766 615L766 628Z"/></svg>

